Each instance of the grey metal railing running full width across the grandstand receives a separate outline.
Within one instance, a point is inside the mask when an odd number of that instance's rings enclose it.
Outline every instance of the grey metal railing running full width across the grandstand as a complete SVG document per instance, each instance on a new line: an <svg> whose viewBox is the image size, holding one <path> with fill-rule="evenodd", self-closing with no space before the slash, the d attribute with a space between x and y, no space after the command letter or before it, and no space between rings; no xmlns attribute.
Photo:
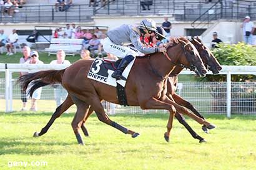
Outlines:
<svg viewBox="0 0 256 170"><path fill-rule="evenodd" d="M86 22L92 16L147 16L173 15L176 21L209 22L220 18L242 19L249 15L256 18L256 1L177 2L155 0L150 10L142 10L140 1L106 1L104 5L73 4L66 11L54 5L22 6L13 17L3 16L0 22Z"/></svg>

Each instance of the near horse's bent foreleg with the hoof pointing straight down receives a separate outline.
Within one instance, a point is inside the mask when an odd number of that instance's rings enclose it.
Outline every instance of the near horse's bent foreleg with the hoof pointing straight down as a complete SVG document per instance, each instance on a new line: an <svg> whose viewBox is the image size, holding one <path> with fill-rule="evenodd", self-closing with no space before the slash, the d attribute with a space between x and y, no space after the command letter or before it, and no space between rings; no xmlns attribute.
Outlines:
<svg viewBox="0 0 256 170"><path fill-rule="evenodd" d="M165 141L169 142L169 136L170 136L170 130L172 130L172 122L174 120L175 115L175 108L173 105L170 105L169 103L165 103L161 100L157 100L156 98L150 98L146 102L144 102L142 105L140 105L142 109L159 109L159 110L168 110L169 120L167 123L167 132L164 133Z"/></svg>

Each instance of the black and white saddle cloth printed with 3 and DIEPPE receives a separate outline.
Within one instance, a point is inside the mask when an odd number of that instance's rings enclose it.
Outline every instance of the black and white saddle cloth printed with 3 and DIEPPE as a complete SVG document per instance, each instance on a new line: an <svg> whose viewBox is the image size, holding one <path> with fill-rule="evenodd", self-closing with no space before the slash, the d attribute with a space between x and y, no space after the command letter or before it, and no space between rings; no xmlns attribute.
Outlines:
<svg viewBox="0 0 256 170"><path fill-rule="evenodd" d="M135 60L132 60L129 65L127 65L126 69L122 73L124 77L128 77L130 73L130 69L132 68L132 65L134 64ZM125 87L126 81L125 80L117 80L116 78L111 77L113 70L108 69L104 66L104 60L100 58L96 58L94 62L91 65L90 71L87 75L87 78L91 78L92 80L96 80L97 82L105 83L107 85L111 85L116 87L117 83L122 85L122 87Z"/></svg>

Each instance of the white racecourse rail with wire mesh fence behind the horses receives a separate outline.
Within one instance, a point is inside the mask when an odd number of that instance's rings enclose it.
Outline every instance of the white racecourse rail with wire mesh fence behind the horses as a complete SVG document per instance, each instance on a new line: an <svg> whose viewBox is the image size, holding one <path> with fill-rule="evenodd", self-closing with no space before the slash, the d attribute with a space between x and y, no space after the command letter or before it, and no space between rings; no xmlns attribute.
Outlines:
<svg viewBox="0 0 256 170"><path fill-rule="evenodd" d="M5 72L5 80L0 81L0 101L6 102L0 111L6 112L21 109L20 85L12 78L12 72L29 72L30 70L62 69L67 65L27 65L27 64L0 64L0 72ZM182 71L183 74L190 72ZM220 74L227 75L227 82L182 82L178 87L178 94L192 103L202 113L227 114L231 113L255 114L256 113L256 82L231 82L232 74L254 74L255 66L222 66ZM52 86L42 88L39 106L42 111L53 111L54 89ZM106 103L106 107L109 103ZM140 110L139 107L117 106L116 113L155 113L157 110ZM161 111L159 111L161 112Z"/></svg>

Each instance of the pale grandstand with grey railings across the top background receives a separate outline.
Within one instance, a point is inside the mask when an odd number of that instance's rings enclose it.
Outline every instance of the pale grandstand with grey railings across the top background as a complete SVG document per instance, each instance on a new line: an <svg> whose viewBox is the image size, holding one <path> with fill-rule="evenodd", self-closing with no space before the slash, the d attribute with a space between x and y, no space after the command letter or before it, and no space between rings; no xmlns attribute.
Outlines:
<svg viewBox="0 0 256 170"><path fill-rule="evenodd" d="M224 42L237 43L242 40L241 19L249 15L256 17L256 1L205 0L154 0L150 10L142 10L139 0L108 1L105 6L97 1L97 6L89 6L89 0L74 1L67 11L56 11L53 0L27 1L14 17L0 14L1 26L9 34L11 29L33 30L34 26L65 26L74 22L77 25L107 26L138 23L140 19L151 17L157 24L163 17L172 22L172 35L200 35L209 43L212 32L219 32ZM132 16L132 17L131 17Z"/></svg>

